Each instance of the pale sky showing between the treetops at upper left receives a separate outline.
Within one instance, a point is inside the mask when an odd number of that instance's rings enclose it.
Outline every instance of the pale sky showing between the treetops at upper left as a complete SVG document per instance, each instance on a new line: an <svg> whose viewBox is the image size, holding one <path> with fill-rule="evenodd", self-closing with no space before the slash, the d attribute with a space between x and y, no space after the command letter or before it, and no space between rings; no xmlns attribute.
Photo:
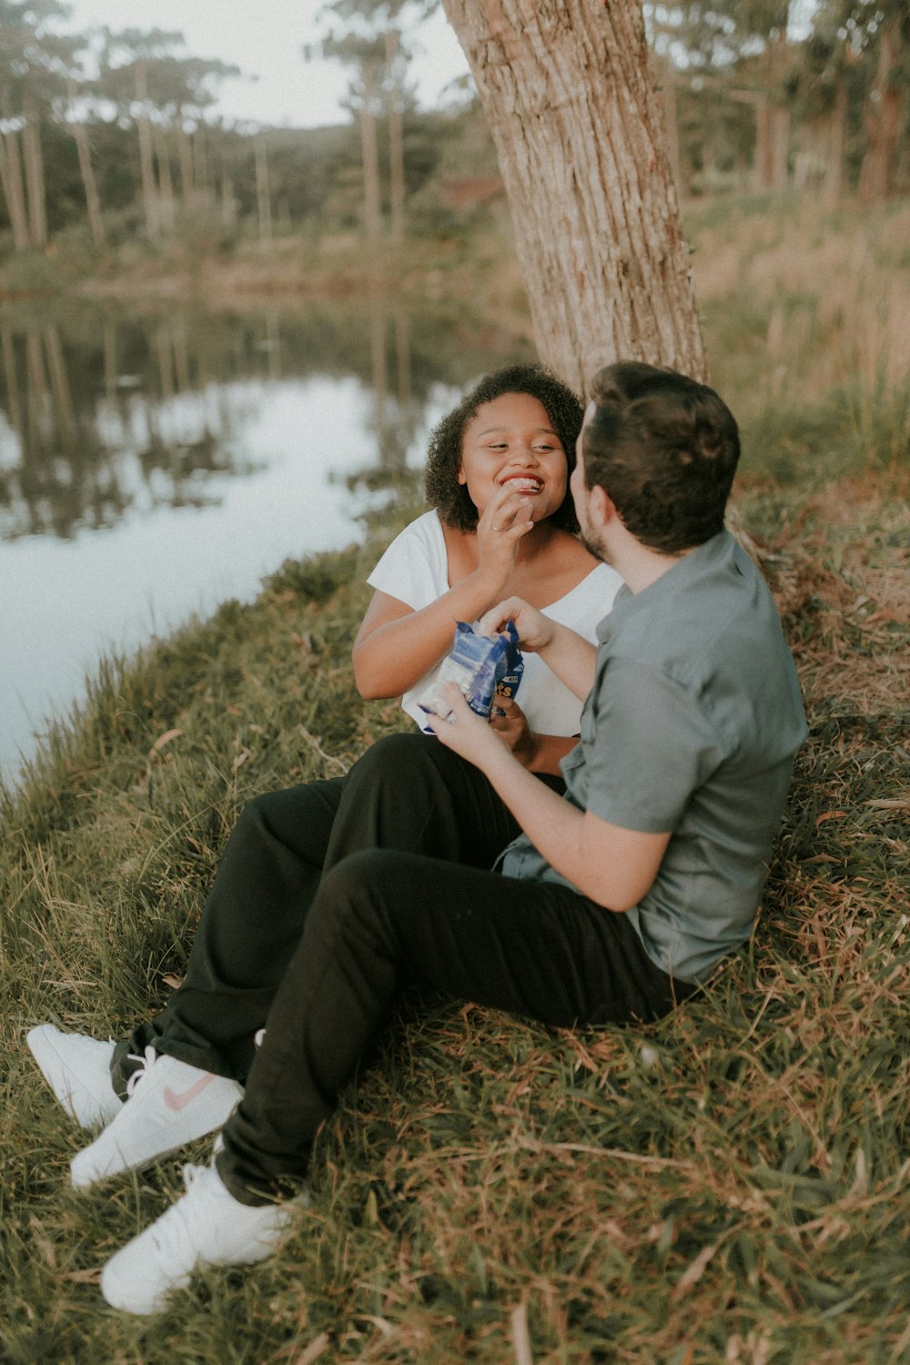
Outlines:
<svg viewBox="0 0 910 1365"><path fill-rule="evenodd" d="M68 0L67 27L165 29L183 33L186 55L220 57L244 72L225 81L218 111L229 121L317 127L347 123L338 100L347 87L344 68L333 61L304 64L302 48L319 35L317 14L323 0ZM439 93L468 71L468 63L442 10L420 27L419 51L409 68L422 108L434 108ZM255 79L254 79L255 78Z"/></svg>

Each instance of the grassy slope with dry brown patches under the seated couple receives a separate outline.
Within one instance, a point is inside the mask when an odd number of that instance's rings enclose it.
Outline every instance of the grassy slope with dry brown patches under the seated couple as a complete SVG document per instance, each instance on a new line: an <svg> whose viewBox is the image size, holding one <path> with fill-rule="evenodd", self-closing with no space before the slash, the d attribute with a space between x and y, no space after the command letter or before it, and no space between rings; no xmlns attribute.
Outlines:
<svg viewBox="0 0 910 1365"><path fill-rule="evenodd" d="M647 1031L469 1006L397 1021L323 1136L288 1250L150 1323L94 1282L180 1163L70 1190L76 1133L22 1032L119 1033L157 1007L243 800L401 722L349 678L370 551L287 565L254 606L105 666L1 811L4 1362L499 1365L527 1338L538 1362L910 1360L910 479L890 412L885 460L866 433L860 472L834 479L797 407L778 412L739 480L812 725L753 951ZM787 472L793 431L812 478Z"/></svg>

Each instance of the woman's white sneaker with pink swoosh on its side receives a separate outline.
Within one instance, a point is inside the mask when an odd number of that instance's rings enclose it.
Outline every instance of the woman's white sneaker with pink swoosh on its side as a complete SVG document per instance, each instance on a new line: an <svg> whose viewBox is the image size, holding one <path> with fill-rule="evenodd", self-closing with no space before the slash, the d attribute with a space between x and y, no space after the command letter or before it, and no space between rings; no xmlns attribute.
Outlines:
<svg viewBox="0 0 910 1365"><path fill-rule="evenodd" d="M147 1166L196 1137L216 1133L243 1095L226 1076L202 1072L176 1057L160 1057L150 1047L145 1072L134 1073L130 1087L139 1076L142 1082L113 1122L70 1162L75 1189Z"/></svg>

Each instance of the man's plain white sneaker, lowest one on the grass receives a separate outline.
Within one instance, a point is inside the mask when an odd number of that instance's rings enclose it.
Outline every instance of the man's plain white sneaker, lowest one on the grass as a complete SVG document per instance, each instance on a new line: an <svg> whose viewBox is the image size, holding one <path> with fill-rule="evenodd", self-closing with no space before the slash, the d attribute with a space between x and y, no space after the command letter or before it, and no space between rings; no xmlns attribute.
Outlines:
<svg viewBox="0 0 910 1365"><path fill-rule="evenodd" d="M157 1313L171 1290L190 1283L194 1269L265 1260L300 1205L241 1204L214 1166L184 1166L183 1179L187 1193L101 1272L101 1293L112 1308Z"/></svg>

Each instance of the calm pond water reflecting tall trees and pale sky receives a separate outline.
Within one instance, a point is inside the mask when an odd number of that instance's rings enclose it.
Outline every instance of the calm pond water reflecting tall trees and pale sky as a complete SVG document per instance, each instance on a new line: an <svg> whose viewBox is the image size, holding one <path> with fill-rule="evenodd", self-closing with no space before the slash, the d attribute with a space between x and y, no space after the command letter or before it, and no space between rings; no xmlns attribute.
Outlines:
<svg viewBox="0 0 910 1365"><path fill-rule="evenodd" d="M4 781L104 652L362 539L460 392L527 358L463 317L378 303L0 306Z"/></svg>

